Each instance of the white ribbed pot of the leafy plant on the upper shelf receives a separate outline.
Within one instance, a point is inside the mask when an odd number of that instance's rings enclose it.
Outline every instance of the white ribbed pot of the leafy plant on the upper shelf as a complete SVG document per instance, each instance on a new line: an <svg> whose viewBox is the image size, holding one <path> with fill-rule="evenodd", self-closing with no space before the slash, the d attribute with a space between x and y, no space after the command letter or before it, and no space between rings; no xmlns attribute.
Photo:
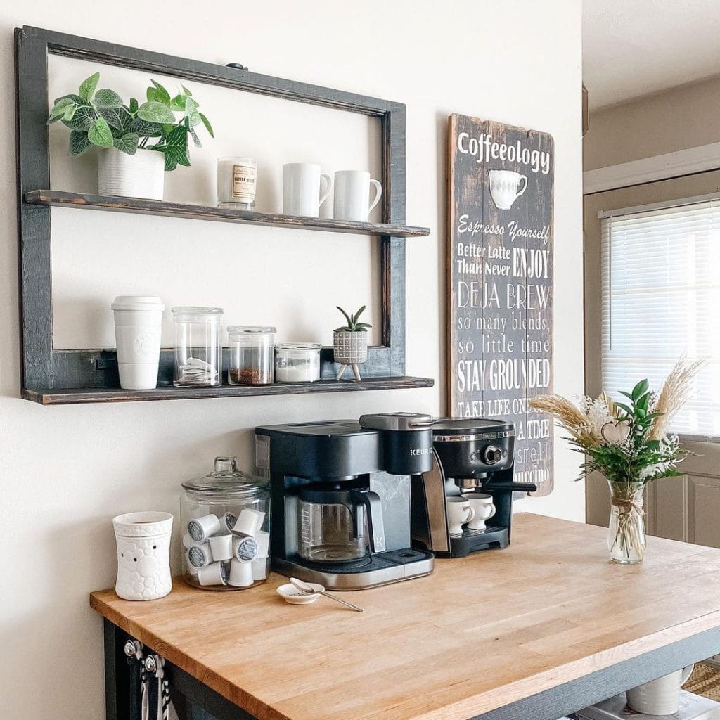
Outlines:
<svg viewBox="0 0 720 720"><path fill-rule="evenodd" d="M135 155L115 148L100 150L97 192L100 195L163 199L165 156L158 150L137 150Z"/></svg>

